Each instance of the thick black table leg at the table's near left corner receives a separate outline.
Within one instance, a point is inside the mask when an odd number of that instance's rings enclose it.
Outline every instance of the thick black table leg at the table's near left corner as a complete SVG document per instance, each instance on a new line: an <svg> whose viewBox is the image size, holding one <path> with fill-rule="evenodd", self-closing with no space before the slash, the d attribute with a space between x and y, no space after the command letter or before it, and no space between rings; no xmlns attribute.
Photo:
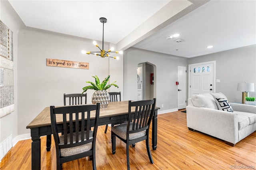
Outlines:
<svg viewBox="0 0 256 170"><path fill-rule="evenodd" d="M41 168L41 139L40 136L38 138L32 138L31 143L31 152L32 152L32 170L40 170Z"/></svg>

